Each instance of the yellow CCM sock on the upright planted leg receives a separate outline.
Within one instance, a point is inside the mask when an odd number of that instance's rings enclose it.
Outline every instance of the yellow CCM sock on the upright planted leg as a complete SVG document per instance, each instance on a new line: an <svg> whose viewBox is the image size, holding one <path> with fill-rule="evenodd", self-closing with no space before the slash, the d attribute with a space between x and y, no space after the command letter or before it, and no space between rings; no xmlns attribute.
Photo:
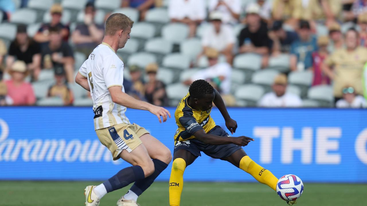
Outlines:
<svg viewBox="0 0 367 206"><path fill-rule="evenodd" d="M183 172L186 168L186 162L182 158L176 158L172 164L170 177L170 206L179 206L181 192L183 187Z"/></svg>

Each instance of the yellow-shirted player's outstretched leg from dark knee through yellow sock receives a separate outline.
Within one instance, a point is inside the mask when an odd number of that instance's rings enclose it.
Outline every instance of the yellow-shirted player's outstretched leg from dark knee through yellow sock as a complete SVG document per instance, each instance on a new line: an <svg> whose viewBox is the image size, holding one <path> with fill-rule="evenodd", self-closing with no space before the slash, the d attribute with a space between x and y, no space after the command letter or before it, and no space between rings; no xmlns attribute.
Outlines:
<svg viewBox="0 0 367 206"><path fill-rule="evenodd" d="M273 190L276 190L278 179L269 170L252 161L243 149L237 150L229 157L221 159L232 163L237 168L251 174L260 183L266 184Z"/></svg>

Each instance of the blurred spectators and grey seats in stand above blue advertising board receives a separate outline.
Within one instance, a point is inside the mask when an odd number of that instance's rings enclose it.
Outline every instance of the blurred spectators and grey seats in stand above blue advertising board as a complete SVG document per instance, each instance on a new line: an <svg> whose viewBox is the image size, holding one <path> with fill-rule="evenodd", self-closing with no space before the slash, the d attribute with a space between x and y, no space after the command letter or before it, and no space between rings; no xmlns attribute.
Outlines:
<svg viewBox="0 0 367 206"><path fill-rule="evenodd" d="M0 0L0 104L92 105L74 78L115 12L137 99L205 79L227 106L366 107L367 0Z"/></svg>

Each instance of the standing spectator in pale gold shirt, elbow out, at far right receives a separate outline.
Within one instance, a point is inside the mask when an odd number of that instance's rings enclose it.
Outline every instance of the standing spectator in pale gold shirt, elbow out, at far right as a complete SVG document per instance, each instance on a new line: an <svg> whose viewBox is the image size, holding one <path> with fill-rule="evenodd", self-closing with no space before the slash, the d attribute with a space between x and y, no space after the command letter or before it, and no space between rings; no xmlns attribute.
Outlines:
<svg viewBox="0 0 367 206"><path fill-rule="evenodd" d="M333 80L335 101L342 98L342 89L350 85L356 94L363 94L362 74L367 62L367 49L358 44L359 34L355 29L345 33L345 48L333 52L323 64L324 73Z"/></svg>

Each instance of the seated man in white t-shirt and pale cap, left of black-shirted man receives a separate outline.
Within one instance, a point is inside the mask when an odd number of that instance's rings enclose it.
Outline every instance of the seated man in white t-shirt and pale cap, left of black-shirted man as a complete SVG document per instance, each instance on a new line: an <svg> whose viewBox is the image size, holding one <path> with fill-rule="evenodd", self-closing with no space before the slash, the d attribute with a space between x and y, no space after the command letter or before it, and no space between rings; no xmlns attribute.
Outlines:
<svg viewBox="0 0 367 206"><path fill-rule="evenodd" d="M232 26L222 24L222 13L219 11L210 13L210 21L211 25L206 27L201 39L203 54L206 49L214 48L226 56L228 63L232 63L232 51L236 41Z"/></svg>

